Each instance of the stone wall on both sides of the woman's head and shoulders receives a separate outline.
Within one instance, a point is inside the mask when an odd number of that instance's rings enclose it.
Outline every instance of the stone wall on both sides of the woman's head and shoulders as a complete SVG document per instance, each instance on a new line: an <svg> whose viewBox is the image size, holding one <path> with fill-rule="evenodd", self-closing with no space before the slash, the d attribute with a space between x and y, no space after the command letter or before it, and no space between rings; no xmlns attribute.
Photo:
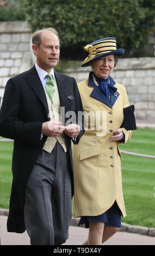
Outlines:
<svg viewBox="0 0 155 256"><path fill-rule="evenodd" d="M90 68L67 70L80 82L88 78ZM137 119L155 124L155 57L120 59L111 74L114 81L125 86Z"/></svg>

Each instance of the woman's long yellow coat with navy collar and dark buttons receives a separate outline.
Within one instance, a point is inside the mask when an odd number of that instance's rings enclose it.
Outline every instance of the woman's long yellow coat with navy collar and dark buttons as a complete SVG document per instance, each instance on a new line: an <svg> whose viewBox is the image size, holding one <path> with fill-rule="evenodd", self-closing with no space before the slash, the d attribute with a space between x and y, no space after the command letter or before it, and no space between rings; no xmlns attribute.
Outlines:
<svg viewBox="0 0 155 256"><path fill-rule="evenodd" d="M121 154L118 143L110 142L109 138L114 130L120 128L123 108L129 106L129 102L124 86L115 84L111 77L110 84L117 88L117 93L111 98L111 104L95 85L92 73L89 80L78 84L85 111L86 130L79 144L72 147L75 217L100 215L107 211L115 200L122 216L126 216ZM121 129L125 133L126 143L132 132Z"/></svg>

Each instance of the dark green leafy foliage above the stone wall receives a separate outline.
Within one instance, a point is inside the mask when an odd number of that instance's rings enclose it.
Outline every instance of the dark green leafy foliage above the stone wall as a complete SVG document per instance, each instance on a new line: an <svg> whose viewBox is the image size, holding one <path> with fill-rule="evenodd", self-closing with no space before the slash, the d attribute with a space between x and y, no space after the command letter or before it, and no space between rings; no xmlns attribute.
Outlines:
<svg viewBox="0 0 155 256"><path fill-rule="evenodd" d="M114 36L126 57L144 51L155 26L154 0L24 0L24 12L33 31L54 27L61 50L81 56L86 44ZM76 54L75 54L76 53ZM66 57L65 56L65 57Z"/></svg>

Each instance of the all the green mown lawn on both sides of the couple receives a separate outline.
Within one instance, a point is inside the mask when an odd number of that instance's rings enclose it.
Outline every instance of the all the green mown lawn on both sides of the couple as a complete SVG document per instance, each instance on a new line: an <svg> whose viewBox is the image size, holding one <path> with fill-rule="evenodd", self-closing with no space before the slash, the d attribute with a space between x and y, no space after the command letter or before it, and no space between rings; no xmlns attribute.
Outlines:
<svg viewBox="0 0 155 256"><path fill-rule="evenodd" d="M155 155L155 130L138 129L121 150ZM13 142L0 142L0 208L9 208ZM155 228L155 159L121 154L127 217L122 222Z"/></svg>

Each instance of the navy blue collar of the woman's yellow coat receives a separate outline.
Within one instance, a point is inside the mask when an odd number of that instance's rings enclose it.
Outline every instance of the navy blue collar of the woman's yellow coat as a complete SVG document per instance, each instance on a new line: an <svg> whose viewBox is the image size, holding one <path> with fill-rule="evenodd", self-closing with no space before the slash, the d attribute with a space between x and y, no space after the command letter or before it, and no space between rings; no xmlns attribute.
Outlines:
<svg viewBox="0 0 155 256"><path fill-rule="evenodd" d="M98 88L98 86L96 86L92 74L93 74L93 72L90 72L89 79L88 79L88 86L94 87L90 96L94 97L96 100L99 100L102 103L109 106L110 108L112 108L120 94L117 92L117 96L111 95L110 102L109 102L107 100L106 96L103 93L101 93L100 88ZM115 81L113 80L113 78L111 78L111 76L110 76L110 84L111 84L111 86L115 86L115 84L116 84Z"/></svg>

